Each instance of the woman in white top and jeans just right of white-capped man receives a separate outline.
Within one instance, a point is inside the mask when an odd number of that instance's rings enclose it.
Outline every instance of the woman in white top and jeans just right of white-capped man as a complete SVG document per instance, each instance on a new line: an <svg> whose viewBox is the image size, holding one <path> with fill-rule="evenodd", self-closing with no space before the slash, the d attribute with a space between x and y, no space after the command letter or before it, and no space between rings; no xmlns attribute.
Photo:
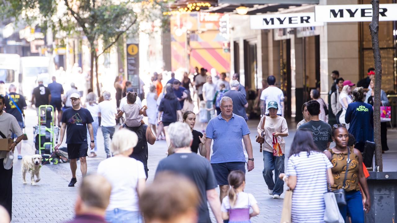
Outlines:
<svg viewBox="0 0 397 223"><path fill-rule="evenodd" d="M92 123L93 125L93 134L94 134L94 144L95 147L93 149L90 149L90 155L88 157L94 157L96 156L96 133L98 132L98 126L99 126L99 122L98 122L98 113L99 113L99 106L98 104L96 104L96 95L94 92L90 92L87 94L87 96L85 97L85 108L87 108L90 113L91 116L93 116L94 122ZM87 138L89 137L89 132L87 131Z"/></svg>

